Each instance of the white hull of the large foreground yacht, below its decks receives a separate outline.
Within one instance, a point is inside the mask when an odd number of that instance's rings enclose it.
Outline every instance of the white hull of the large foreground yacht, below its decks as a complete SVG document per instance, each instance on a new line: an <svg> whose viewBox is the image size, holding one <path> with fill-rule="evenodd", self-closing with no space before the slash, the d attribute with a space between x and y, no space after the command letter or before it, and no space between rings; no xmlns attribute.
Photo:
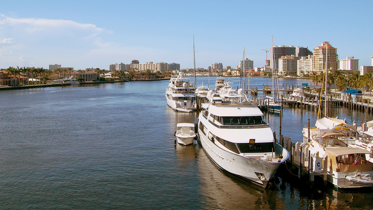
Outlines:
<svg viewBox="0 0 373 210"><path fill-rule="evenodd" d="M282 164L282 162L272 163L233 154L212 143L200 128L198 128L198 133L202 148L218 167L257 185L266 187Z"/></svg>

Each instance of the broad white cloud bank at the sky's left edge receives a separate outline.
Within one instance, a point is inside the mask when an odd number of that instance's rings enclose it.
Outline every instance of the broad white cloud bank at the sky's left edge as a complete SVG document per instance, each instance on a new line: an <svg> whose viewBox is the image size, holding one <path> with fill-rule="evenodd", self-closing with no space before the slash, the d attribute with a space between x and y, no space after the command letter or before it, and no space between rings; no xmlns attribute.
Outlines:
<svg viewBox="0 0 373 210"><path fill-rule="evenodd" d="M21 65L22 62L43 67L58 62L69 65L90 55L91 50L111 48L114 43L107 37L112 33L90 23L12 18L0 14L0 57L6 56L6 59L0 59L0 68ZM94 59L88 58L88 61Z"/></svg>

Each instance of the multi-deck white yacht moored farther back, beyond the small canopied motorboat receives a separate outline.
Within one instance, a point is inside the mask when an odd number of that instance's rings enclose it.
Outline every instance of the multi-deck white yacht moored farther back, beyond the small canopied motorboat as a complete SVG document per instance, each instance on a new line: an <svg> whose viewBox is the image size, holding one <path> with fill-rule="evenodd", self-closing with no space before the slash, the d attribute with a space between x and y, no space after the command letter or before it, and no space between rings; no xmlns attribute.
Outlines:
<svg viewBox="0 0 373 210"><path fill-rule="evenodd" d="M167 105L181 112L192 112L196 110L197 103L193 85L189 78L184 78L183 73L172 75L166 89Z"/></svg>

